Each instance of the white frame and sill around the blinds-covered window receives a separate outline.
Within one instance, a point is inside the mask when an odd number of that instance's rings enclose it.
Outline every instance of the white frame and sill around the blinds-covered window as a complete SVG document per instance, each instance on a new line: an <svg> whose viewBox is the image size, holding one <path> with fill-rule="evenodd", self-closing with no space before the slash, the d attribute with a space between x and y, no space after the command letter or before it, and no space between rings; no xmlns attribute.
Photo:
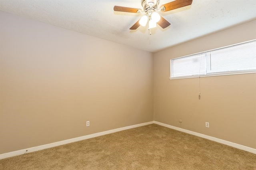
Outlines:
<svg viewBox="0 0 256 170"><path fill-rule="evenodd" d="M256 39L170 59L170 77L169 77L169 79L171 79L171 80L172 79L190 79L190 78L196 78L196 77L212 77L212 76L256 73L256 69L252 69L252 70L242 70L242 71L225 71L225 72L218 72L218 73L206 73L204 75L189 75L189 76L172 77L172 60L174 60L174 59L189 57L189 56L193 56L193 55L202 55L202 54L206 54L206 53L211 52L211 51L216 51L216 50L219 50L219 49L224 49L224 48L228 48L228 47L232 47L232 46L236 46L236 45L241 45L241 44L245 44L245 43L250 43L250 42L255 42L256 43Z"/></svg>

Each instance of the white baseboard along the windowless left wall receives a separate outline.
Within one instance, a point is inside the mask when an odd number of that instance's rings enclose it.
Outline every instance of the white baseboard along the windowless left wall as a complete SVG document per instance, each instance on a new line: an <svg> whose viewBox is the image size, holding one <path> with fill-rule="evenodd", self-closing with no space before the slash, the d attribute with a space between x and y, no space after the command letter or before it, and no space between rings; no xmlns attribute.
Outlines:
<svg viewBox="0 0 256 170"><path fill-rule="evenodd" d="M42 149L47 149L47 148L52 148L52 147L55 147L55 146L60 146L60 145L63 145L63 144L78 142L80 140L94 138L94 137L102 136L102 135L105 135L105 134L119 132L119 131L127 130L127 129L130 129L130 128L142 127L142 126L150 125L150 124L153 124L153 123L154 123L154 121L146 122L146 123L140 123L140 124L131 125L131 126L128 126L128 127L116 128L116 129L107 130L107 131L104 131L104 132L98 132L98 133L89 134L89 135L86 135L86 136L80 136L80 137L77 137L77 138L62 140L62 141L59 141L59 142L54 142L54 143L50 143L50 144L44 144L44 145L41 145L41 146L35 146L35 147L32 147L32 148L26 148L26 149L22 149L22 150L13 151L13 152L8 152L8 153L0 154L0 160L4 159L4 158L9 158L9 157L12 157L12 156L18 156L18 155L22 155L22 154L25 154L25 153L30 153L30 152L35 152L35 151L42 150Z"/></svg>

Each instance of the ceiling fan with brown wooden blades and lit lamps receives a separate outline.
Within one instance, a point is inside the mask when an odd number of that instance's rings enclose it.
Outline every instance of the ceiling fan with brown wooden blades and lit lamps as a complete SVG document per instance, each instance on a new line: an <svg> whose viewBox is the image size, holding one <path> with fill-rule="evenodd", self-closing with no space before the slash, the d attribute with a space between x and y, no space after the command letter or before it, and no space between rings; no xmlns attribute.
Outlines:
<svg viewBox="0 0 256 170"><path fill-rule="evenodd" d="M174 0L167 4L163 4L158 8L158 4L160 0L142 0L141 5L142 9L137 8L129 8L124 6L114 6L114 11L119 12L132 12L132 13L143 13L145 15L140 18L131 28L130 30L136 30L139 26L146 26L148 23L148 30L156 27L156 23L162 27L163 29L170 26L170 22L164 19L162 16L158 14L157 11L166 12L170 10L174 10L177 8L182 8L184 6L188 6L192 4L192 0Z"/></svg>

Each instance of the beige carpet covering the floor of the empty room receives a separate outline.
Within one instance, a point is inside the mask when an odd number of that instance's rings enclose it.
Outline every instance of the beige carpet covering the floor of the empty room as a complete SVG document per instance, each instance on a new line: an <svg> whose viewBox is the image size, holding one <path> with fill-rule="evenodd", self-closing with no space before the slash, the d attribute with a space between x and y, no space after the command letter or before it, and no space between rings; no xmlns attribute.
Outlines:
<svg viewBox="0 0 256 170"><path fill-rule="evenodd" d="M1 170L256 170L256 154L147 125L0 160Z"/></svg>

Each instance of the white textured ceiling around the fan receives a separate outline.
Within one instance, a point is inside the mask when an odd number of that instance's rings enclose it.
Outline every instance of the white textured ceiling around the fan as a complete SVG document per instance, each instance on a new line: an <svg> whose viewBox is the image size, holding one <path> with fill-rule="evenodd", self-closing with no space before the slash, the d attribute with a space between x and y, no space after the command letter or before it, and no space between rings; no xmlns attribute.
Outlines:
<svg viewBox="0 0 256 170"><path fill-rule="evenodd" d="M2 11L151 52L256 19L256 0L193 0L159 12L171 25L150 35L142 26L129 30L142 14L114 12L115 5L142 8L141 0L0 0Z"/></svg>

